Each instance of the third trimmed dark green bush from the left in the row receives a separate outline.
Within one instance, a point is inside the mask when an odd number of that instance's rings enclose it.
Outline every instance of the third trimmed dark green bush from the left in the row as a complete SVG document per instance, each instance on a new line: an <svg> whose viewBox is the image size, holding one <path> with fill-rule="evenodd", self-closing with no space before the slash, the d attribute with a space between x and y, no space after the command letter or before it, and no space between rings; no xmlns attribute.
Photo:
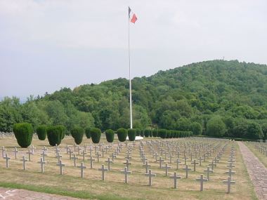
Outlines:
<svg viewBox="0 0 267 200"><path fill-rule="evenodd" d="M49 145L56 146L60 145L60 142L63 138L63 128L61 126L48 126L46 128L47 139Z"/></svg>

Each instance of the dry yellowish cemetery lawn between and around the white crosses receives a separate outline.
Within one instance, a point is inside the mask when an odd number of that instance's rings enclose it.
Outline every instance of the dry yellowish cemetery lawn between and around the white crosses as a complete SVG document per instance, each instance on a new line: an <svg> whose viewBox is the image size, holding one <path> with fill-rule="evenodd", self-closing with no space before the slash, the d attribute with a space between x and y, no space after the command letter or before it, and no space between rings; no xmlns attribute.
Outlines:
<svg viewBox="0 0 267 200"><path fill-rule="evenodd" d="M165 169L159 168L159 161L155 160L155 157L150 152L150 148L147 142L150 141L163 141L163 142L173 142L174 144L179 144L180 150L180 160L181 164L176 170L176 160L177 155L172 158L170 162L169 157L165 159L164 153L162 154L162 159L165 161L162 166L165 166L165 162L171 166L169 169L168 176L165 175ZM101 138L100 144L106 142L105 138ZM65 164L63 167L63 175L60 175L60 168L57 166L58 158L56 158L55 147L48 145L48 140L38 140L34 138L32 140L32 145L34 149L34 154L31 157L31 161L26 162L26 170L22 169L22 156L25 155L28 159L28 154L26 152L28 149L22 149L18 146L15 138L4 138L0 139L0 147L4 146L6 152L8 152L8 157L11 159L8 161L9 168L6 168L6 159L1 157L0 159L0 187L8 188L18 188L18 189L29 189L36 192L45 192L51 194L60 194L65 196L73 196L81 199L257 199L254 193L254 187L249 175L247 173L247 168L245 167L244 161L242 160L242 155L240 153L239 146L237 142L227 142L227 140L217 140L217 139L206 139L206 138L179 138L179 139L154 139L145 138L143 142L143 150L145 157L148 159L148 164L152 173L156 174L156 177L152 178L152 186L148 186L148 176L145 176L145 167L143 167L143 161L141 161L140 156L140 141L136 141L136 145L133 147L133 142L128 143L128 147L131 147L131 165L129 166L129 182L124 183L125 175L121 172L124 170L124 163L126 162L125 157L127 156L126 143L122 142L122 151L118 153L117 158L114 159L114 163L110 166L110 171L105 171L105 180L102 180L102 172L98 171L98 168L104 164L105 168L108 167L107 161L108 157L115 152L118 142L112 143L112 149L108 150L108 154L99 157L99 162L97 161L97 156L95 148L93 145L92 155L93 168L90 168L89 159L89 144L91 139L84 137L84 140L79 147L87 146L84 166L84 178L81 178L81 169L74 167L74 160L70 160L70 155L66 152L66 145L68 145L74 152L74 140L70 136L66 136L62 143L59 145L60 154L62 155L62 163ZM213 147L220 145L218 149L211 152L211 156L207 158L206 161L197 159L199 155L193 154L193 160L196 159L197 163L202 161L202 165L197 164L195 171L193 171L193 164L191 164L190 154L188 152L183 152L183 146L185 144L212 144ZM223 152L221 159L217 166L214 166L214 173L209 174L209 181L204 182L204 190L200 192L200 182L196 181L196 178L200 178L200 174L207 178L207 166L211 164L211 161L216 157L216 155L221 151L224 145L227 145L225 151ZM41 173L41 166L38 163L41 158L42 148L46 146L47 156L45 157L46 164L44 165L44 173ZM98 146L98 145L96 145ZM156 146L156 145L154 145ZM14 147L18 148L17 159L14 155ZM232 176L232 180L235 180L235 185L231 185L230 194L227 192L227 185L223 184L223 180L228 179L226 171L228 171L228 159L231 152L231 147L235 147L235 167L233 170L235 174ZM77 147L76 147L77 148ZM82 152L82 150L81 150ZM80 166L83 161L82 153L76 149L76 156L79 157L77 160L77 166ZM191 150L193 152L193 150ZM99 152L102 154L103 152ZM160 155L160 152L157 151ZM184 165L184 154L188 157L187 164L191 171L188 173L188 178L185 178L185 168ZM0 155L2 156L2 155ZM157 159L159 159L159 156ZM111 157L110 157L111 158ZM178 187L174 189L174 179L170 176L174 175L174 172L181 176L178 180Z"/></svg>

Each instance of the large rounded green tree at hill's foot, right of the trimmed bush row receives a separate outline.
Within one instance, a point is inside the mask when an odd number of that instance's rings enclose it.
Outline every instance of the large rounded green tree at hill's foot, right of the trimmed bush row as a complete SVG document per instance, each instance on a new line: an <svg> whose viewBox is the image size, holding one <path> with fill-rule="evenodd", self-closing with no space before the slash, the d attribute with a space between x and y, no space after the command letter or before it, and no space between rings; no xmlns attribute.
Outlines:
<svg viewBox="0 0 267 200"><path fill-rule="evenodd" d="M208 121L207 135L223 137L226 133L226 125L221 120L221 117L215 116Z"/></svg>

